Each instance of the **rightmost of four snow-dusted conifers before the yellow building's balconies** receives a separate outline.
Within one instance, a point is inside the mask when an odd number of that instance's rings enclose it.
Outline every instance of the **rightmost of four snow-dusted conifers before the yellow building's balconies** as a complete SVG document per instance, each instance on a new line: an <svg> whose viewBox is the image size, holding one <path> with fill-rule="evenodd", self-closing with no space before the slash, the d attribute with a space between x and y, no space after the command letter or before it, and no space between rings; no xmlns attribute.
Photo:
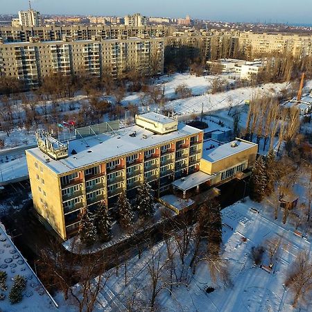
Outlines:
<svg viewBox="0 0 312 312"><path fill-rule="evenodd" d="M151 218L155 214L153 190L148 182L138 189L137 209L141 218Z"/></svg>

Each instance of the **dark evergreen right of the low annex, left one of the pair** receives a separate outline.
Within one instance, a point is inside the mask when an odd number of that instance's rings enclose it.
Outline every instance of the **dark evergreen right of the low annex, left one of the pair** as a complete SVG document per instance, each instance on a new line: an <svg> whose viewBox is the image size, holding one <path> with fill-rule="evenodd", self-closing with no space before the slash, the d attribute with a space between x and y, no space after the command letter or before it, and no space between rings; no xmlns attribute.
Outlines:
<svg viewBox="0 0 312 312"><path fill-rule="evenodd" d="M254 162L249 185L250 199L261 202L266 194L266 165L263 162L262 156L258 157Z"/></svg>

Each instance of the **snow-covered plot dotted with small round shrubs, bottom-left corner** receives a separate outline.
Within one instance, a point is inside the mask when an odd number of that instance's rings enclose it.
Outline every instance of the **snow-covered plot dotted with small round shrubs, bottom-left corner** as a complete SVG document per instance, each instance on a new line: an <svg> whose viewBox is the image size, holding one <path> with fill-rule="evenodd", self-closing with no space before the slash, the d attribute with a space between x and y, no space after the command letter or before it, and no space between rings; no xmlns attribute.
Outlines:
<svg viewBox="0 0 312 312"><path fill-rule="evenodd" d="M6 285L8 289L0 294L5 295L0 300L1 311L25 311L25 312L42 312L42 311L58 311L53 304L51 298L46 293L39 279L37 279L31 267L28 266L26 260L15 245L13 245L10 237L6 234L3 225L0 223L0 271L7 273ZM26 289L23 292L23 299L17 304L10 304L8 295L13 285L13 277L22 275L26 277Z"/></svg>

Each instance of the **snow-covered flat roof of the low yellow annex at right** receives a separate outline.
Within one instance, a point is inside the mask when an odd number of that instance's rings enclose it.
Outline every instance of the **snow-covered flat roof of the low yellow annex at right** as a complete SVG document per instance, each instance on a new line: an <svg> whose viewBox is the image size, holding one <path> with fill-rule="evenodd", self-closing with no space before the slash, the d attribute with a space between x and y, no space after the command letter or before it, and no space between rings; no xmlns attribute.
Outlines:
<svg viewBox="0 0 312 312"><path fill-rule="evenodd" d="M235 147L232 147L233 145ZM232 142L226 144L216 143L216 146L211 142L211 140L204 141L203 148L202 148L202 159L207 160L208 162L218 162L218 160L229 157L236 153L240 153L243 150L248 150L257 144L248 142L248 141L241 141L239 139L234 140Z"/></svg>

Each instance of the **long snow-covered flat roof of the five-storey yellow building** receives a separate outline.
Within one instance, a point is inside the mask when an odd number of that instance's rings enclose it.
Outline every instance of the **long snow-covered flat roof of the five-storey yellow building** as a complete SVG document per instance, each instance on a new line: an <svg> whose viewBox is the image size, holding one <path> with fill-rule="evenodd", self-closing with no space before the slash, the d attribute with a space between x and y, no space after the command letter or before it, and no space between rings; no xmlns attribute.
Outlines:
<svg viewBox="0 0 312 312"><path fill-rule="evenodd" d="M130 136L135 132L136 136ZM116 132L69 141L69 157L64 159L54 160L39 148L31 148L26 150L26 153L33 155L55 173L62 174L94 163L109 161L109 159L121 155L166 144L169 141L187 137L187 135L196 135L200 132L202 130L179 123L177 131L157 135L152 131L139 127L139 125L131 125ZM71 155L72 150L76 150L77 154ZM46 162L46 159L49 159L49 162Z"/></svg>

